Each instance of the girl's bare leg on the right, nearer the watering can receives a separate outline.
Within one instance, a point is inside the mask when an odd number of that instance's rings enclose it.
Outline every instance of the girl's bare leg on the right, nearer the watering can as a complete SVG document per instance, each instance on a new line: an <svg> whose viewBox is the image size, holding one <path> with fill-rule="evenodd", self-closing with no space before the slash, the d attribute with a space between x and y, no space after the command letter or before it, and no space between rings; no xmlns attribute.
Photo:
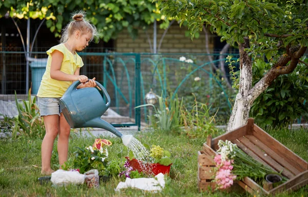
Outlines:
<svg viewBox="0 0 308 197"><path fill-rule="evenodd" d="M59 155L59 164L60 169L62 169L62 165L67 161L67 153L68 153L68 138L70 133L70 126L65 120L63 113L60 116L60 130L59 137L57 143L57 151Z"/></svg>

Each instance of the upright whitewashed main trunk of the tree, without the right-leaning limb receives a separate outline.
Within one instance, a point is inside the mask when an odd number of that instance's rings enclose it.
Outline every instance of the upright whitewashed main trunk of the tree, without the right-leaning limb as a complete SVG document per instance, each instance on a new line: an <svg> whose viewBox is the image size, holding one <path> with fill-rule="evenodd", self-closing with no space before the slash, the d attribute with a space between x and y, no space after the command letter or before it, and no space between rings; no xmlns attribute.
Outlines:
<svg viewBox="0 0 308 197"><path fill-rule="evenodd" d="M244 51L249 47L249 38L244 37L244 43L239 44L240 51L240 87L239 93L236 95L235 104L230 116L227 130L232 131L246 124L251 104L247 101L247 95L252 88L252 58Z"/></svg>

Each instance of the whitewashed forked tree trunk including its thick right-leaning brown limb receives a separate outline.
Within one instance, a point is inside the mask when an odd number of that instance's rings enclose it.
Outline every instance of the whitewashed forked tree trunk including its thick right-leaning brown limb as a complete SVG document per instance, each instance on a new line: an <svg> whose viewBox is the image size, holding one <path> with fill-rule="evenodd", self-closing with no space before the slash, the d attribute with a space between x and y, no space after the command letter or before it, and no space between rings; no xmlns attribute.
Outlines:
<svg viewBox="0 0 308 197"><path fill-rule="evenodd" d="M252 59L244 51L249 47L245 38L245 43L239 44L240 51L240 87L236 95L235 104L230 116L227 130L232 131L247 123L249 111L257 97L281 74L288 74L294 71L300 58L304 55L307 47L293 46L286 49L272 68L261 78L252 88Z"/></svg>

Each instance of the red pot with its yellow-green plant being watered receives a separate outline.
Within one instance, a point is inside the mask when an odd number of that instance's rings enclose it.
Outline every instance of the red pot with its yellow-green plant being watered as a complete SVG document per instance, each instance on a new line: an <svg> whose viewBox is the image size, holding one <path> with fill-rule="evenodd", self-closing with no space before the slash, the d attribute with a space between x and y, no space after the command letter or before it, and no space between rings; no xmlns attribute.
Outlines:
<svg viewBox="0 0 308 197"><path fill-rule="evenodd" d="M129 157L126 157L126 159L127 164L131 167L131 171L138 170L139 172L143 172L145 174L169 174L170 167L172 165L170 152L156 145L151 146L148 161L136 159L132 151L129 151Z"/></svg>

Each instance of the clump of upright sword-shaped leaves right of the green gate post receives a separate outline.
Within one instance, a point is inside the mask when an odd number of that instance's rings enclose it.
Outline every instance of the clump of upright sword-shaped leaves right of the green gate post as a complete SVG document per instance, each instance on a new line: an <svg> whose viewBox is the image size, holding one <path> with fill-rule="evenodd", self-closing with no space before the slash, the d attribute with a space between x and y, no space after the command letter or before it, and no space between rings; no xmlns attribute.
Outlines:
<svg viewBox="0 0 308 197"><path fill-rule="evenodd" d="M154 119L150 117L150 119L153 120L153 127L163 131L170 131L177 129L180 126L179 117L181 113L180 111L182 102L180 103L177 95L175 96L174 100L172 100L172 95L170 96L169 105L163 96L158 96L158 109L153 104L140 105L136 108L146 106L151 106L155 110Z"/></svg>

